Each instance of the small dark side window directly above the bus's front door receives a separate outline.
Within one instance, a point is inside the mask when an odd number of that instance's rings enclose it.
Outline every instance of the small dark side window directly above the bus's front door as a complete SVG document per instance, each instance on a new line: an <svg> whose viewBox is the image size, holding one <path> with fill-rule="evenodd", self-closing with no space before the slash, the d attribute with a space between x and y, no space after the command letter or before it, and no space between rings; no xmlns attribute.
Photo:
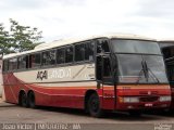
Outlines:
<svg viewBox="0 0 174 130"><path fill-rule="evenodd" d="M108 40L98 40L97 42L97 53L110 52Z"/></svg>

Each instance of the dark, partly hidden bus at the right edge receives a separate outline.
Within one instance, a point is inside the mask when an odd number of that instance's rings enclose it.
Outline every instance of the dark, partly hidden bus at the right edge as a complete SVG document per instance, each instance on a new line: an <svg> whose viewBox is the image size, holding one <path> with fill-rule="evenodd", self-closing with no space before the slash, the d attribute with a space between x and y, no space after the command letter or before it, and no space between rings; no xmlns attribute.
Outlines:
<svg viewBox="0 0 174 130"><path fill-rule="evenodd" d="M161 40L159 41L159 46L163 53L167 72L166 74L172 90L171 109L173 109L174 108L174 40Z"/></svg>

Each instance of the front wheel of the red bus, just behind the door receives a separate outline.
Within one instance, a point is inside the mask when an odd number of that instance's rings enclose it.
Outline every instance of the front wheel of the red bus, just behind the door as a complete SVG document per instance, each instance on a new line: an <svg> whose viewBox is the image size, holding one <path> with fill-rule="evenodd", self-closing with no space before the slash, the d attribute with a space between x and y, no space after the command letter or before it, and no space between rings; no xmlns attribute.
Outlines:
<svg viewBox="0 0 174 130"><path fill-rule="evenodd" d="M100 107L100 100L97 93L94 93L89 96L88 100L88 112L92 117L101 117L103 110Z"/></svg>

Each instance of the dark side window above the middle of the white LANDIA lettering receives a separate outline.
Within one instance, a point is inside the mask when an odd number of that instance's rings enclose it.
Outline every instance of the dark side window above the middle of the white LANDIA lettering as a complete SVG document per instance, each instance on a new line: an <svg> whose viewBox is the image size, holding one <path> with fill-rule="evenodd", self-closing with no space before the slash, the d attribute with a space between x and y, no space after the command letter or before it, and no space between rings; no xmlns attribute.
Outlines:
<svg viewBox="0 0 174 130"><path fill-rule="evenodd" d="M65 61L65 52L64 48L57 50L57 64L63 64Z"/></svg>

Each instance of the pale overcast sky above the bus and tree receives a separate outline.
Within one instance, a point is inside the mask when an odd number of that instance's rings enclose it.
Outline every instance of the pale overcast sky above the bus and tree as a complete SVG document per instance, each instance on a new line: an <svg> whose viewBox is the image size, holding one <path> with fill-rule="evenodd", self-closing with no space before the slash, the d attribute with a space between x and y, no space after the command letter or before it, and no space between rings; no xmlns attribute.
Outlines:
<svg viewBox="0 0 174 130"><path fill-rule="evenodd" d="M42 30L42 41L100 34L174 39L174 0L1 0L9 18Z"/></svg>

